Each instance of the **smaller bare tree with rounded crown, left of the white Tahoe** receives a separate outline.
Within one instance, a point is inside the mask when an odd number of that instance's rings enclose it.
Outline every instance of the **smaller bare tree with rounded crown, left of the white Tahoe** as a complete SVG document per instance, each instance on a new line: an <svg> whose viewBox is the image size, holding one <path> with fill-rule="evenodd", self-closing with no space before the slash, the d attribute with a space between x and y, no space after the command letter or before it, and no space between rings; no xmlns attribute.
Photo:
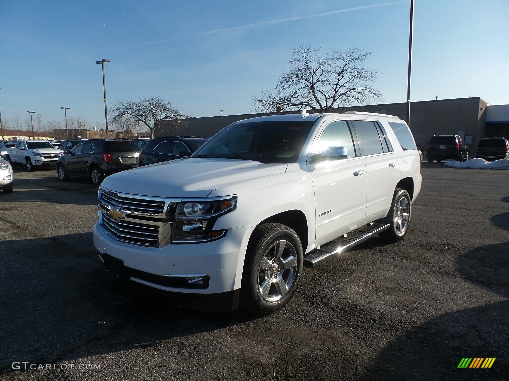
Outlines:
<svg viewBox="0 0 509 381"><path fill-rule="evenodd" d="M183 112L173 106L171 102L160 98L142 98L138 102L120 101L111 110L114 115L112 122L131 119L139 121L147 126L150 138L154 138L154 132L161 120L175 120L182 118Z"/></svg>

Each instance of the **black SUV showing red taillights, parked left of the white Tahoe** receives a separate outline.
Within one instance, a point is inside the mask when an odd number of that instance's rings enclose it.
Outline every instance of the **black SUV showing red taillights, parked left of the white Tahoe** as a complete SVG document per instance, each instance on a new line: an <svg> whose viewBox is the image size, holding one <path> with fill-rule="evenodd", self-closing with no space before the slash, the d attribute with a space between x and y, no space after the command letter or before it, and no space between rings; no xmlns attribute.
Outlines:
<svg viewBox="0 0 509 381"><path fill-rule="evenodd" d="M59 157L56 174L61 180L83 176L100 184L107 175L136 168L138 157L138 146L128 140L82 140L70 153Z"/></svg>

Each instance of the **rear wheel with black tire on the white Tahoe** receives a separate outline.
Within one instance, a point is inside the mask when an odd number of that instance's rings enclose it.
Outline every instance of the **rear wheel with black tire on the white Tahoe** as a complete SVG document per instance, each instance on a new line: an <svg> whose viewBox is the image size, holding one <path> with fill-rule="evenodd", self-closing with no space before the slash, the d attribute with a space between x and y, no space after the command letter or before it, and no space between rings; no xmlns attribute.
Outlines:
<svg viewBox="0 0 509 381"><path fill-rule="evenodd" d="M379 236L389 242L402 239L408 231L411 215L410 195L405 189L396 188L389 213L381 220L382 223L390 225L389 229L384 230Z"/></svg>

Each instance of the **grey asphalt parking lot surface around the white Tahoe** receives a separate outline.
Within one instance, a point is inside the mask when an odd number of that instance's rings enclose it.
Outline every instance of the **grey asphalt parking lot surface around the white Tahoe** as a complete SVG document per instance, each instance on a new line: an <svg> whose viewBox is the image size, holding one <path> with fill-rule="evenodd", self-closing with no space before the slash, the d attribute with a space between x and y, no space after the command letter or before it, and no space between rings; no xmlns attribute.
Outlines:
<svg viewBox="0 0 509 381"><path fill-rule="evenodd" d="M112 278L92 243L97 186L15 167L0 193L0 379L507 379L509 171L422 167L404 240L304 269L266 317ZM495 361L458 368L466 357Z"/></svg>

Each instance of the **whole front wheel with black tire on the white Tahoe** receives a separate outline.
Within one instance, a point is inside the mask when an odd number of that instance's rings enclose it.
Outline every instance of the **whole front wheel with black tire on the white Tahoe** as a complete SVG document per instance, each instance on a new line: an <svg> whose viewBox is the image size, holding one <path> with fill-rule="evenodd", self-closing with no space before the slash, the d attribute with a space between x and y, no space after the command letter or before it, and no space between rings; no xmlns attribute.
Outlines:
<svg viewBox="0 0 509 381"><path fill-rule="evenodd" d="M284 307L297 289L303 261L300 239L288 226L264 224L254 229L242 272L242 307L259 315Z"/></svg>

